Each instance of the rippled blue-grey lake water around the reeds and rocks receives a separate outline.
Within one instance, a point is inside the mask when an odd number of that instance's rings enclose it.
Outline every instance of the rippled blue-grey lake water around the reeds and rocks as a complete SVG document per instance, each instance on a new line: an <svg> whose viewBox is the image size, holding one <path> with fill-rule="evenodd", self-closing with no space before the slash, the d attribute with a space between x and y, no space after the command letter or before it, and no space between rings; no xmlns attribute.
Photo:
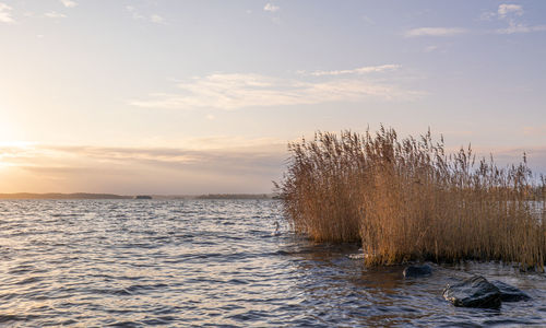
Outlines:
<svg viewBox="0 0 546 328"><path fill-rule="evenodd" d="M542 273L471 263L404 280L357 253L292 235L274 200L0 201L0 326L546 326ZM442 300L471 273L533 301Z"/></svg>

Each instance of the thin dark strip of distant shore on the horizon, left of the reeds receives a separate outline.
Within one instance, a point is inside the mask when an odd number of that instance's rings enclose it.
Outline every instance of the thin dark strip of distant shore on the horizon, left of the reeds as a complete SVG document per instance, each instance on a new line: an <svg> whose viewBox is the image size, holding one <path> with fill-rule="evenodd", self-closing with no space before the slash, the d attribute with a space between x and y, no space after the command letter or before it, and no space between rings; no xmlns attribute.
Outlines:
<svg viewBox="0 0 546 328"><path fill-rule="evenodd" d="M115 194L91 194L91 192L14 192L14 194L0 194L2 199L134 199L136 196L115 195ZM169 200L169 199L272 199L275 198L273 194L207 194L207 195L150 195L152 199Z"/></svg>

